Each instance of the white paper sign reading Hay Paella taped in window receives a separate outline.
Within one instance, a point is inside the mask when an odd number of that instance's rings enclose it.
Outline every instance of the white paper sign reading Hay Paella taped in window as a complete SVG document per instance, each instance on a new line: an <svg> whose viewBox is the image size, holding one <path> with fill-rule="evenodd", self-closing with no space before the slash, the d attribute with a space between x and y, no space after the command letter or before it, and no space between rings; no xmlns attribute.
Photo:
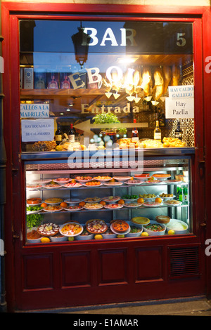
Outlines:
<svg viewBox="0 0 211 330"><path fill-rule="evenodd" d="M194 118L194 98L166 98L165 117Z"/></svg>

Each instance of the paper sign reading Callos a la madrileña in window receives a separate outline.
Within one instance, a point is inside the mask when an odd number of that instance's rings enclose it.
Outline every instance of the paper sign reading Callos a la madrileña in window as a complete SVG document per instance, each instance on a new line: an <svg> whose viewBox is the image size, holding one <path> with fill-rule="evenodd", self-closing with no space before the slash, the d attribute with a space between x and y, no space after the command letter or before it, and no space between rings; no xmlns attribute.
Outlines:
<svg viewBox="0 0 211 330"><path fill-rule="evenodd" d="M20 118L48 118L48 103L20 103Z"/></svg>

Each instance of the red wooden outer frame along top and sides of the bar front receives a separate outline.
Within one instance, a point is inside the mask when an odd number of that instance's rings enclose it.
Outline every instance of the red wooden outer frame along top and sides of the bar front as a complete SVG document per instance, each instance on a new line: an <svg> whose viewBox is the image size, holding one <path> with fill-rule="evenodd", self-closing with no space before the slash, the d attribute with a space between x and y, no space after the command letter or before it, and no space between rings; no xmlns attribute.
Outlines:
<svg viewBox="0 0 211 330"><path fill-rule="evenodd" d="M46 16L45 13L48 13ZM51 15L49 15L49 13ZM209 141L209 132L211 131L211 121L209 114L209 107L211 104L211 76L207 69L206 62L211 55L211 46L209 42L211 15L210 7L201 6L136 6L136 5L103 5L103 4L31 4L31 3L2 3L2 34L4 36L3 42L3 57L5 61L4 73L4 132L7 152L7 201L13 201L15 204L8 202L6 204L6 272L10 274L9 284L7 283L7 301L9 308L15 308L15 272L18 271L16 265L21 265L21 260L18 258L15 265L13 263L14 246L17 246L17 241L13 239L13 234L20 232L21 218L23 218L23 207L21 201L23 196L23 169L19 159L20 154L20 118L19 112L19 53L18 49L18 19L19 18L34 18L39 15L39 18L53 18L54 14L66 13L70 17L79 15L79 13L86 13L87 18L94 18L94 15L113 14L116 18L119 15L133 15L136 18L145 18L153 20L194 20L194 29L200 31L200 36L194 34L194 53L195 53L195 81L202 81L202 84L196 83L195 95L196 97L196 166L194 177L196 178L196 187L199 190L193 192L193 200L198 200L200 205L203 204L207 220L211 218L211 211L209 209L209 188L210 188L210 168L211 168L211 150ZM37 16L38 17L38 16ZM57 19L59 17L57 16ZM62 17L64 19L64 17ZM15 38L11 39L10 29L13 27L12 34ZM15 29L15 30L14 30ZM15 43L15 44L14 44ZM203 49L203 52L197 52L197 49ZM11 51L15 54L11 55ZM207 69L207 70L206 70ZM17 140L19 141L17 144ZM206 150L204 150L204 146ZM205 170L203 169L203 161L205 161ZM201 169L198 170L198 164L201 164ZM200 173L198 172L200 171ZM202 171L205 171L206 186L200 185L203 183ZM205 198L203 198L205 196ZM15 205L15 209L13 209ZM194 204L195 205L195 204ZM200 209L200 210L201 210ZM196 217L200 219L200 211L195 209ZM19 220L15 220L15 214L19 215ZM200 227L200 223L204 223L204 219L198 220L197 232L201 235L201 242L211 237L211 223L207 221L207 230ZM14 245L12 244L14 242ZM18 244L20 249L20 244ZM17 246L17 247L18 247ZM211 258L211 256L210 256ZM205 257L207 261L207 293L211 293L209 279L211 277L211 262L209 257Z"/></svg>

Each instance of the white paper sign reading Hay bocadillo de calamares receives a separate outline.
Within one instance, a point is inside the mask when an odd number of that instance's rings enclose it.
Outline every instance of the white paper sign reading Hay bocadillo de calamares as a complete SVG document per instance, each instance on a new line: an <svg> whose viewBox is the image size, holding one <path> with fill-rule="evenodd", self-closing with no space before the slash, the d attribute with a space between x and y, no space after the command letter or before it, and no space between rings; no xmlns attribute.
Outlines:
<svg viewBox="0 0 211 330"><path fill-rule="evenodd" d="M22 141L52 141L54 138L53 119L22 119Z"/></svg>

